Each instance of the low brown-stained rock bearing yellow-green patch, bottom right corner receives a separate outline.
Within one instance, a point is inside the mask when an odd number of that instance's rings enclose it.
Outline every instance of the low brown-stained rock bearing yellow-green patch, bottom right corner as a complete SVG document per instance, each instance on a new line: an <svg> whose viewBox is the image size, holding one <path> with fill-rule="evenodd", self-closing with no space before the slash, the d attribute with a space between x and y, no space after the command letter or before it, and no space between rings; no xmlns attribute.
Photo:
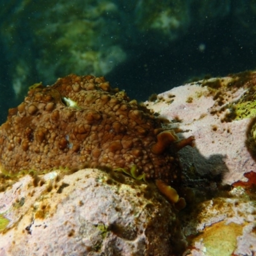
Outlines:
<svg viewBox="0 0 256 256"><path fill-rule="evenodd" d="M184 236L192 237L184 255L255 255L255 202L255 195L233 188L194 205L189 220L180 220Z"/></svg>

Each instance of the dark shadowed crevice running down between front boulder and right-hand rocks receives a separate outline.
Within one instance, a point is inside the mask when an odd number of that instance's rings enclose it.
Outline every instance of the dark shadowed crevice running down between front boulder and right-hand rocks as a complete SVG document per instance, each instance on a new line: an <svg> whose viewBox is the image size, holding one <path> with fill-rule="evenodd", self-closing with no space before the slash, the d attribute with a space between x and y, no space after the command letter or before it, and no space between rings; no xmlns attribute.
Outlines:
<svg viewBox="0 0 256 256"><path fill-rule="evenodd" d="M186 198L187 205L178 216L181 228L189 226L189 236L196 236L203 203L214 198L230 197L228 192L232 186L222 184L224 175L228 173L225 156L212 154L205 158L196 147L182 148L179 156L182 166L182 188L179 193ZM188 234L185 236L189 243Z"/></svg>

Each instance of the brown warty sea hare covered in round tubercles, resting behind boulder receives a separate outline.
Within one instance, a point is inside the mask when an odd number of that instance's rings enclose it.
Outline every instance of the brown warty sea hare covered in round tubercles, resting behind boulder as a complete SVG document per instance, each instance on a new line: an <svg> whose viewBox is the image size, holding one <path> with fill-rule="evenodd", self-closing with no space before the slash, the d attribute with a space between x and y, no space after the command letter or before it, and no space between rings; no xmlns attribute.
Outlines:
<svg viewBox="0 0 256 256"><path fill-rule="evenodd" d="M161 119L104 77L71 74L29 89L0 127L2 172L106 166L129 173L136 166L137 176L161 180L161 188L179 184L177 151L193 147L193 136L178 141Z"/></svg>

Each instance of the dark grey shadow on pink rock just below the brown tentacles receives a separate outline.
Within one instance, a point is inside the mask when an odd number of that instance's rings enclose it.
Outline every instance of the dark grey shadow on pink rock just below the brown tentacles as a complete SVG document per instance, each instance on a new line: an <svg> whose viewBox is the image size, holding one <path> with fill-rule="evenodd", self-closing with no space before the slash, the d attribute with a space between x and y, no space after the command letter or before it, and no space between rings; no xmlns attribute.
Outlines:
<svg viewBox="0 0 256 256"><path fill-rule="evenodd" d="M197 148L186 147L180 150L180 164L182 167L182 187L191 188L195 194L195 200L189 204L200 204L205 200L227 195L232 186L223 184L223 177L227 175L228 168L225 164L225 156L212 154L205 158ZM222 193L224 192L224 193ZM225 196L225 197L226 197Z"/></svg>

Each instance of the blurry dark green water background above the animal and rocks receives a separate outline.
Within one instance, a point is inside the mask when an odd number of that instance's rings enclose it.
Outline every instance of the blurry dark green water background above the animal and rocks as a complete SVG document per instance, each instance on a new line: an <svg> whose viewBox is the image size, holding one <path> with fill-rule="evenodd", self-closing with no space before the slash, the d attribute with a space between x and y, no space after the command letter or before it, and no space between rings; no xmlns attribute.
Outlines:
<svg viewBox="0 0 256 256"><path fill-rule="evenodd" d="M0 1L0 124L28 87L105 76L147 100L204 77L255 69L256 1Z"/></svg>

